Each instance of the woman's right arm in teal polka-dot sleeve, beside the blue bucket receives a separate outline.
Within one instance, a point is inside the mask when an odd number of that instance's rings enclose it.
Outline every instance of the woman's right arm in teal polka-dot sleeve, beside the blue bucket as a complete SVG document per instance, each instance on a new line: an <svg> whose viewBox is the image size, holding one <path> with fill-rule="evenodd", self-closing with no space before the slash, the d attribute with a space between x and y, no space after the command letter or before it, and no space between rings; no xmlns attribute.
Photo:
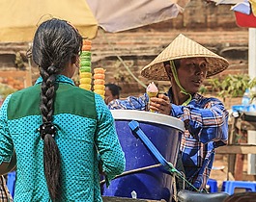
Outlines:
<svg viewBox="0 0 256 202"><path fill-rule="evenodd" d="M125 154L116 133L114 118L98 94L96 106L99 129L95 143L100 153L102 172L108 182L125 170Z"/></svg>

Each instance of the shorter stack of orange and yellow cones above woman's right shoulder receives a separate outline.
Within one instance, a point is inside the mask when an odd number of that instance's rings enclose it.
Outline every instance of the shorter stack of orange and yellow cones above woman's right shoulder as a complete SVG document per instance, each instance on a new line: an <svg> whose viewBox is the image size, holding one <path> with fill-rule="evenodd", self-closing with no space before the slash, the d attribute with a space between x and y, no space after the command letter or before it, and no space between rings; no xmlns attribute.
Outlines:
<svg viewBox="0 0 256 202"><path fill-rule="evenodd" d="M105 98L105 69L94 69L94 92L100 94L102 99Z"/></svg>

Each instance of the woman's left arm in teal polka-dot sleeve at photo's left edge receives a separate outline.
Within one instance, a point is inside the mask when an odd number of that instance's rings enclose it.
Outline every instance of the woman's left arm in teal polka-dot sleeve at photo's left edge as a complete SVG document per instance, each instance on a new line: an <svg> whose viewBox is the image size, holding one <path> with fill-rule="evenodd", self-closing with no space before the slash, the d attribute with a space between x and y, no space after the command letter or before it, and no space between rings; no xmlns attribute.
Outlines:
<svg viewBox="0 0 256 202"><path fill-rule="evenodd" d="M7 124L7 107L10 97L7 97L0 110L0 175L14 169L16 158L14 144Z"/></svg>

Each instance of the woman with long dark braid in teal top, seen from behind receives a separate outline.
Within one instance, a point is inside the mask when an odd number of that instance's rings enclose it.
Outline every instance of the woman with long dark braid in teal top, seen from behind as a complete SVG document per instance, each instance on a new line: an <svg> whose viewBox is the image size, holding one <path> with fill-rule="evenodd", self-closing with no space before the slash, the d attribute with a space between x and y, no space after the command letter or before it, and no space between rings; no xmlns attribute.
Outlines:
<svg viewBox="0 0 256 202"><path fill-rule="evenodd" d="M16 165L14 201L102 201L99 173L108 184L125 169L104 101L71 80L81 47L67 21L43 22L32 48L41 77L1 108L0 174Z"/></svg>

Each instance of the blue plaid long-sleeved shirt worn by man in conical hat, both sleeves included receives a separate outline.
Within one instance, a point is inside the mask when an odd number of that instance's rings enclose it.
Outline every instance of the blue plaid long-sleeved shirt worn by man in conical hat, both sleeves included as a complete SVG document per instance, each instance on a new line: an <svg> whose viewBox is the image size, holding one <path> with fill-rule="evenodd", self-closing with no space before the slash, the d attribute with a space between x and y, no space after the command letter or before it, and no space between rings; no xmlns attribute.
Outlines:
<svg viewBox="0 0 256 202"><path fill-rule="evenodd" d="M171 88L166 93L172 103ZM113 100L110 110L145 111L149 97L129 96L126 100ZM185 177L198 189L204 189L214 160L214 148L225 145L228 139L228 112L216 98L195 93L187 106L172 104L172 116L185 121L185 133L181 142Z"/></svg>

